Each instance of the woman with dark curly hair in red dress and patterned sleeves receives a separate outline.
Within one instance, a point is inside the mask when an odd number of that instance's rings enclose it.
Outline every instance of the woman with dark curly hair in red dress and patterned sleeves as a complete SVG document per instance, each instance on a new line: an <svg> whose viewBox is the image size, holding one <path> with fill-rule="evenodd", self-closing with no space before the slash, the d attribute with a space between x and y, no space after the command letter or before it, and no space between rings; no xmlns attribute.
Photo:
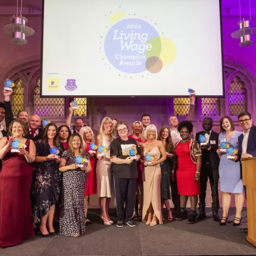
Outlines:
<svg viewBox="0 0 256 256"><path fill-rule="evenodd" d="M188 198L191 201L191 211L189 213L188 224L196 221L196 204L200 194L200 173L202 151L200 144L190 135L193 130L193 124L190 121L182 121L178 126L180 137L182 138L176 144L175 155L177 163L174 163L173 170L176 169L177 187L180 195L180 214L176 220L185 220L186 204Z"/></svg>

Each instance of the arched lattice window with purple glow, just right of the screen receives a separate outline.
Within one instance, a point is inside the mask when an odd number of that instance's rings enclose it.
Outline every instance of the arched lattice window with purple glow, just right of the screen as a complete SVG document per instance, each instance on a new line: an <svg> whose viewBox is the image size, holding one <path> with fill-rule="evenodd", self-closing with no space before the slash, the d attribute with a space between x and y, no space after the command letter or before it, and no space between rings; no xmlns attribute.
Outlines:
<svg viewBox="0 0 256 256"><path fill-rule="evenodd" d="M229 114L238 115L246 110L245 83L239 76L230 82L229 86Z"/></svg>

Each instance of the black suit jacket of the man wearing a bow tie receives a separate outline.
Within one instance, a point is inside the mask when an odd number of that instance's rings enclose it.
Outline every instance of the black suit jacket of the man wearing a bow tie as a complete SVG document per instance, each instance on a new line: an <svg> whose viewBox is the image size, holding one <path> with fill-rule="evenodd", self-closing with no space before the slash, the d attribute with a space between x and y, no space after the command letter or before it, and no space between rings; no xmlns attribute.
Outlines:
<svg viewBox="0 0 256 256"><path fill-rule="evenodd" d="M199 142L199 136L204 135L204 131L196 133L195 139ZM220 164L220 157L218 157L217 149L218 149L218 135L219 133L211 131L211 135L209 138L209 145L211 145L210 150L208 149L202 149L202 166L204 166L206 163L209 163L213 170L218 171L218 166ZM214 141L214 143L211 143L211 141ZM199 142L200 143L200 142Z"/></svg>

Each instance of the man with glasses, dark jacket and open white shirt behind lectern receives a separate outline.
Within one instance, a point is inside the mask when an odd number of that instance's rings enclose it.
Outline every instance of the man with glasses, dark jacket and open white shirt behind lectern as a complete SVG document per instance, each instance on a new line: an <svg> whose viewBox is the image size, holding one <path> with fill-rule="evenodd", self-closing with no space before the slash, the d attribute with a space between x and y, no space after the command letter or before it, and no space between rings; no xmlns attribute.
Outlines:
<svg viewBox="0 0 256 256"><path fill-rule="evenodd" d="M233 161L240 161L241 158L256 157L256 126L252 125L251 114L247 111L240 113L238 121L243 133L238 137L238 154L235 155ZM246 196L246 187L244 188ZM241 232L248 234L248 229L241 229Z"/></svg>

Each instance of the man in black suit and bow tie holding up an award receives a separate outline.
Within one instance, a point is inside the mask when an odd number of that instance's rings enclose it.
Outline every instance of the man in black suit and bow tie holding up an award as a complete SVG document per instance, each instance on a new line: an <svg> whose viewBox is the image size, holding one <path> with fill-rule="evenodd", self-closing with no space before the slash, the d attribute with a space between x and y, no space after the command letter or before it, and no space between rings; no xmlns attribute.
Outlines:
<svg viewBox="0 0 256 256"><path fill-rule="evenodd" d="M205 214L205 197L207 191L207 181L210 180L211 185L211 198L213 199L212 211L214 221L220 221L218 217L218 209L220 208L220 202L218 201L218 165L220 164L220 158L216 150L218 149L218 135L214 132L213 119L204 118L202 123L204 130L196 133L196 141L199 141L200 136L204 135L206 138L206 145L201 145L202 148L202 168L200 177L200 195L199 195L199 216L198 220L206 217Z"/></svg>

